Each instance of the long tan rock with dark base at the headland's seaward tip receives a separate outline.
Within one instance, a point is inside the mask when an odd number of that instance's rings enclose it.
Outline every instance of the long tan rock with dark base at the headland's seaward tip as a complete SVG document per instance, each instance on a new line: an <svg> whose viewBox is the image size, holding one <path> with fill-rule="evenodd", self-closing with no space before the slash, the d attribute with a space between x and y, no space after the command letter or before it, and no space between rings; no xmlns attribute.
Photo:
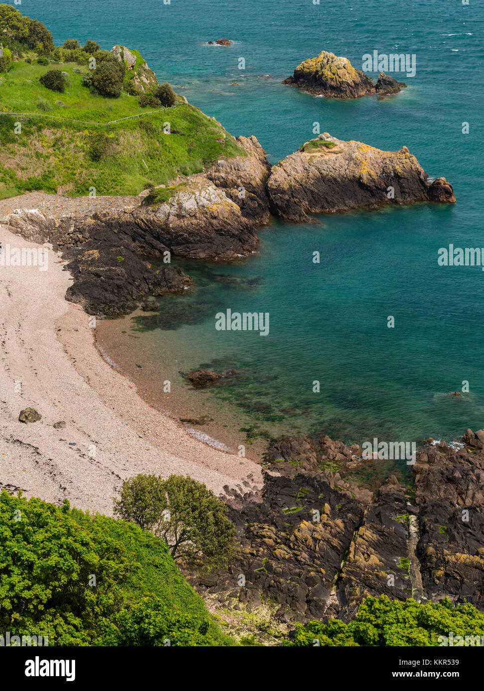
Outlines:
<svg viewBox="0 0 484 691"><path fill-rule="evenodd" d="M291 221L382 204L456 201L445 178L428 182L407 146L382 151L327 132L273 166L267 187L274 214Z"/></svg>

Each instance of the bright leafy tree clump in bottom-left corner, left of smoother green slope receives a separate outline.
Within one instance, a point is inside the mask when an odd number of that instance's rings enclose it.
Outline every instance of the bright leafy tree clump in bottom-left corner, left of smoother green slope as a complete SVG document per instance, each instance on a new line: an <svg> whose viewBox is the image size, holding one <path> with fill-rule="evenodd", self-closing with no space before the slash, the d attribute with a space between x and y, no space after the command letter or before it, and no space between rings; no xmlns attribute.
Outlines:
<svg viewBox="0 0 484 691"><path fill-rule="evenodd" d="M0 495L0 630L86 645L123 603L129 558L62 507ZM95 585L92 576L95 575Z"/></svg>

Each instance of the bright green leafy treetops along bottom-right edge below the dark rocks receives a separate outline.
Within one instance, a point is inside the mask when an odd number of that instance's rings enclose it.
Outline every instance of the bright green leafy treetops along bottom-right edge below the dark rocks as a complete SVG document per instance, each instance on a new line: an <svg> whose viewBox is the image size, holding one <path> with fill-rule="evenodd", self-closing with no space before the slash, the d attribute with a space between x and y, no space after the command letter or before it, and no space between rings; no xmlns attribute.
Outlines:
<svg viewBox="0 0 484 691"><path fill-rule="evenodd" d="M484 636L484 613L470 603L454 607L448 599L422 604L382 595L366 598L349 624L331 619L328 624L296 625L295 640L284 645L437 646L443 643L439 636L448 637L450 632L454 641L456 636Z"/></svg>

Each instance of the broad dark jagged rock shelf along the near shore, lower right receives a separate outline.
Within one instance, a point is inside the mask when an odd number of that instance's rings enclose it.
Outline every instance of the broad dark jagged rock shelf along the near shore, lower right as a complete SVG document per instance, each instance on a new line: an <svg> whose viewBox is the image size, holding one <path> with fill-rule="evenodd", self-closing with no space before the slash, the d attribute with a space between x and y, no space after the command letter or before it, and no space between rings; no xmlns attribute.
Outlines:
<svg viewBox="0 0 484 691"><path fill-rule="evenodd" d="M309 462L317 448L308 439L280 440L281 475L271 465L262 493L226 488L241 544L230 567L190 574L190 583L222 609L270 602L283 622L349 621L364 597L380 594L483 609L484 433L467 430L464 441L419 451L415 489L391 475L364 495L339 473L300 472L297 450ZM347 448L329 437L322 446Z"/></svg>

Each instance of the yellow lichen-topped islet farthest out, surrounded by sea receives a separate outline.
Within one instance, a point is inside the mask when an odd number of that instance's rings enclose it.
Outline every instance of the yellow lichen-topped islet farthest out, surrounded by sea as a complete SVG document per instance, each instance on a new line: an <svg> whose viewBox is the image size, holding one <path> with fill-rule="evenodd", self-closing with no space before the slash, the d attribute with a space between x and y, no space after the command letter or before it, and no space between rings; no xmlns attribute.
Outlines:
<svg viewBox="0 0 484 691"><path fill-rule="evenodd" d="M283 84L304 88L313 95L331 98L358 98L375 93L375 84L361 70L355 69L346 57L322 50L317 57L308 58L294 70Z"/></svg>

